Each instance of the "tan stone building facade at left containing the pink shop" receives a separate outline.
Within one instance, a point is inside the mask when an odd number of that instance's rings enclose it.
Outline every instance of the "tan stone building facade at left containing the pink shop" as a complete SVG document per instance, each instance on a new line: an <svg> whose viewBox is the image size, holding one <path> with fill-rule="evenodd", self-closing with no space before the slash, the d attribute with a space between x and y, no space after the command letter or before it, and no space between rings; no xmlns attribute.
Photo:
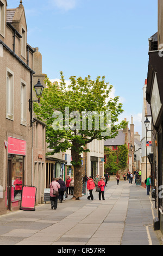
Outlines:
<svg viewBox="0 0 163 256"><path fill-rule="evenodd" d="M19 209L24 185L36 186L36 203L42 200L46 127L35 119L30 123L28 101L40 71L34 65L35 48L27 44L22 1L15 9L7 9L6 0L0 4L0 214L4 214Z"/></svg>

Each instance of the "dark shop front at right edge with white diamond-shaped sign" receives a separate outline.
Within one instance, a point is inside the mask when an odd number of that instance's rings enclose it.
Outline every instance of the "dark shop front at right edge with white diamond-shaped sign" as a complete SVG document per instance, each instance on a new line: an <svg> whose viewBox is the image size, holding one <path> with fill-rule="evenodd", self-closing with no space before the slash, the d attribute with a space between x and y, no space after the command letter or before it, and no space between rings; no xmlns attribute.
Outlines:
<svg viewBox="0 0 163 256"><path fill-rule="evenodd" d="M159 51L149 52L148 79L146 99L151 105L152 130L154 139L154 185L156 188L158 217L160 230L163 234L163 58L159 56ZM156 180L155 180L156 179ZM156 204L156 203L155 203Z"/></svg>

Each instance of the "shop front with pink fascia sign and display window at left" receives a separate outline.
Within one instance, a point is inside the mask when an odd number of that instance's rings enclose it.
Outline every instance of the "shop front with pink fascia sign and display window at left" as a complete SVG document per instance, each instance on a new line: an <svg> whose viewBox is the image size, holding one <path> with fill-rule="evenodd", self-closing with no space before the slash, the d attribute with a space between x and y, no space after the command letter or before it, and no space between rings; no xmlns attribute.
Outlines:
<svg viewBox="0 0 163 256"><path fill-rule="evenodd" d="M24 185L24 158L26 141L8 137L7 190L5 204L7 210L20 207L22 186Z"/></svg>

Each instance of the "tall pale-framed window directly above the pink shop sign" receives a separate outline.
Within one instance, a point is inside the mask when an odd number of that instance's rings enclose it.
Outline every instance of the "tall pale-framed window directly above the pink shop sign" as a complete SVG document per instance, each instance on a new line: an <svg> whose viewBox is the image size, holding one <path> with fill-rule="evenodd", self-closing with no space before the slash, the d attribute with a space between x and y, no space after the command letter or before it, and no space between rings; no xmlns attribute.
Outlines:
<svg viewBox="0 0 163 256"><path fill-rule="evenodd" d="M14 120L14 74L7 69L7 118Z"/></svg>

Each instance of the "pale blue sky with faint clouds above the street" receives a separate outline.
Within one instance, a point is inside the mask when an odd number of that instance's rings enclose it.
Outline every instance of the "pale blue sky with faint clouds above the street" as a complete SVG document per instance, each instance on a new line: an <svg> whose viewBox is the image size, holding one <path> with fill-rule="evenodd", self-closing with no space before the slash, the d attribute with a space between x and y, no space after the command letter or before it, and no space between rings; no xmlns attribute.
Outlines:
<svg viewBox="0 0 163 256"><path fill-rule="evenodd" d="M142 88L148 71L148 38L158 30L158 1L22 0L27 42L39 47L42 73L51 80L105 76L133 116L141 135ZM20 0L7 0L8 8Z"/></svg>

